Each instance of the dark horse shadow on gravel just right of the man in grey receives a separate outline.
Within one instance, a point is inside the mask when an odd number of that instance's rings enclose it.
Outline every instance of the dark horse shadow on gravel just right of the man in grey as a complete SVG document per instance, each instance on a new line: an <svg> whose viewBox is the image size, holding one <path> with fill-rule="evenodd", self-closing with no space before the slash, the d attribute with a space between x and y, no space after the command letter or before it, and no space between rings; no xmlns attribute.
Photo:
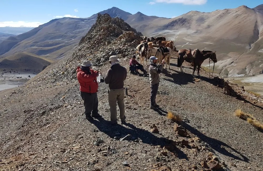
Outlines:
<svg viewBox="0 0 263 171"><path fill-rule="evenodd" d="M175 71L175 70L173 70L173 71ZM187 74L187 73L181 73L181 72L179 72L179 71L175 71L176 73L171 73L171 72L169 72L168 70L163 70L163 74L165 74L165 76L167 76L167 77L169 77L169 78L171 78L171 79L164 79L164 80L166 80L166 81L170 81L170 82L173 82L173 83L175 83L175 84L178 84L178 85L186 85L186 84L188 84L189 82L190 83L194 83L195 84L195 82L194 82L194 78L193 78L193 76L191 75L191 74Z"/></svg>

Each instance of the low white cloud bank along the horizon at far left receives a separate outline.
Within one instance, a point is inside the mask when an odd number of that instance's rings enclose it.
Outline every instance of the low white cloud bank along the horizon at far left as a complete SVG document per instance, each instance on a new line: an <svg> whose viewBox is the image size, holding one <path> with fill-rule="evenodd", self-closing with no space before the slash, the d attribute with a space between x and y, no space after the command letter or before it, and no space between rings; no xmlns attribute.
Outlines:
<svg viewBox="0 0 263 171"><path fill-rule="evenodd" d="M28 22L28 21L3 21L0 22L0 27L38 27L43 23Z"/></svg>

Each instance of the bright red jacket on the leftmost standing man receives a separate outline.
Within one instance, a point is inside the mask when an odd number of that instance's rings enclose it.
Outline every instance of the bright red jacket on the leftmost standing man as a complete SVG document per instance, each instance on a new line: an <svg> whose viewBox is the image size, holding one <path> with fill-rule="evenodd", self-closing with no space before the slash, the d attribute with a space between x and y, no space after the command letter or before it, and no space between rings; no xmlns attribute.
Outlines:
<svg viewBox="0 0 263 171"><path fill-rule="evenodd" d="M95 93L98 91L97 73L90 69L91 74L83 71L80 67L77 67L77 79L79 81L79 90L86 93Z"/></svg>

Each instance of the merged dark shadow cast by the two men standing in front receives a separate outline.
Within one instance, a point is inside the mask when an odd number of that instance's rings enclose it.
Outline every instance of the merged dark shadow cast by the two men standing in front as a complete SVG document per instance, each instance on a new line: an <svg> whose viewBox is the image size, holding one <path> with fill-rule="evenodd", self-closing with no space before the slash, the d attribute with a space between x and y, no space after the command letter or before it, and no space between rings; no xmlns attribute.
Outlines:
<svg viewBox="0 0 263 171"><path fill-rule="evenodd" d="M94 124L101 132L107 134L110 138L120 140L127 136L124 140L142 142L151 146L160 145L161 147L168 145L171 140L164 137L157 137L147 130L137 128L133 124L125 123L124 125L129 127L126 128L122 125L111 125L110 121L104 118L98 118L98 120L91 120L90 123ZM95 131L95 130L94 130ZM176 147L174 150L180 159L188 160L186 154ZM172 152L172 151L171 151Z"/></svg>

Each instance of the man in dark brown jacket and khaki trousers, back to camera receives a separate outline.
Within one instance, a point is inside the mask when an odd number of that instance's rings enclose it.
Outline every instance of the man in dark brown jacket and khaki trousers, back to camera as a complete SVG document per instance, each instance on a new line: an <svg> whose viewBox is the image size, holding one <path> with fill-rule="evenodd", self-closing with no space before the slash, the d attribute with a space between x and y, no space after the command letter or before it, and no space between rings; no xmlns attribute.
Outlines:
<svg viewBox="0 0 263 171"><path fill-rule="evenodd" d="M119 64L117 56L110 56L109 60L112 65L105 76L105 83L109 84L108 99L110 105L110 121L113 125L117 124L117 107L120 109L120 120L125 124L125 109L124 109L124 80L127 77L126 68Z"/></svg>

